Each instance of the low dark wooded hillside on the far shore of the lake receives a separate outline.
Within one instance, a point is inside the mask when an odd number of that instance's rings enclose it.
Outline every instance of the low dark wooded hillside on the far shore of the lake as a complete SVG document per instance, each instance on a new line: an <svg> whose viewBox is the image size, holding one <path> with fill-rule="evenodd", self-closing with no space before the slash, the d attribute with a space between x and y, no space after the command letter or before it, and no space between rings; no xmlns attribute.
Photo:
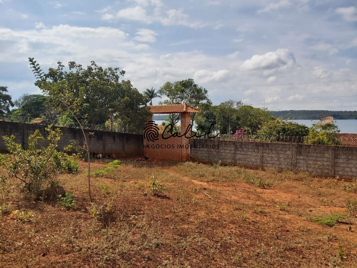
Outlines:
<svg viewBox="0 0 357 268"><path fill-rule="evenodd" d="M282 116L290 119L321 119L325 116L332 116L333 119L357 119L357 111L325 111L325 110L289 110L273 111L273 116Z"/></svg>

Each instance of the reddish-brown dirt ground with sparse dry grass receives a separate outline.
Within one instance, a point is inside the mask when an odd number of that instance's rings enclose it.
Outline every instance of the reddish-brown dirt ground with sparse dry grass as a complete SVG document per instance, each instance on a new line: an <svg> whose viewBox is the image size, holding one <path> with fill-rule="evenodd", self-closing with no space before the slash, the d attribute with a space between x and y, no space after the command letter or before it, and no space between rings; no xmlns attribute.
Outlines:
<svg viewBox="0 0 357 268"><path fill-rule="evenodd" d="M34 200L16 179L1 183L10 211L0 216L0 267L357 267L357 182L307 173L196 163L92 163L92 217L86 163L58 179L75 207ZM97 170L97 171L96 171ZM98 171L99 170L99 171ZM165 187L154 196L151 175ZM315 217L339 214L331 227Z"/></svg>

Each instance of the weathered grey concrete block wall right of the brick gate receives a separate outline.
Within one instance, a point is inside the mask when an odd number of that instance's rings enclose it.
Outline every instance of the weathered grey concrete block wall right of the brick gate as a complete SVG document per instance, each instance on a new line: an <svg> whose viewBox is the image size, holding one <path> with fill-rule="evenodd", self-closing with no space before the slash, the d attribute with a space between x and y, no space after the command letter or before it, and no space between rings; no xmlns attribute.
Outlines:
<svg viewBox="0 0 357 268"><path fill-rule="evenodd" d="M225 165L247 168L275 167L308 171L321 177L357 178L357 147L208 139L190 139L190 145L191 155L202 163L221 160Z"/></svg>

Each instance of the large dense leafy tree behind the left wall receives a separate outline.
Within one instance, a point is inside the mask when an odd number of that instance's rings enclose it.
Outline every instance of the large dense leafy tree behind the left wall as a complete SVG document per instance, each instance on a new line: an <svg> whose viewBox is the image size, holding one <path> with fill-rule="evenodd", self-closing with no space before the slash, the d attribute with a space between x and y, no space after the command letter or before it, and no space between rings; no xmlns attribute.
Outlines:
<svg viewBox="0 0 357 268"><path fill-rule="evenodd" d="M124 70L103 69L94 61L86 69L75 61L70 61L68 66L70 71L64 71L64 65L58 62L57 69L50 68L43 75L49 83L65 82L71 98L81 101L79 119L85 119L94 127L96 124L104 124L110 114L116 114L121 121L130 118L132 122L139 120L144 124L149 114L145 107L146 98L132 87L129 80L120 81L120 77L125 74ZM56 100L51 100L52 106L61 106ZM145 118L141 120L140 116L144 115Z"/></svg>

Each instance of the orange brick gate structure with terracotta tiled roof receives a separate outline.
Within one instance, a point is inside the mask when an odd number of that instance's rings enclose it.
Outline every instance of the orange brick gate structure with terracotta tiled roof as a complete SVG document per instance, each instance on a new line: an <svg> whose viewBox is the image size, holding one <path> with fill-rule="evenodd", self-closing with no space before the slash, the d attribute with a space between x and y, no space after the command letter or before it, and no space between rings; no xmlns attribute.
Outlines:
<svg viewBox="0 0 357 268"><path fill-rule="evenodd" d="M172 105L155 105L149 106L152 114L180 114L181 126L180 133L185 133L188 125L191 123L191 113L201 113L200 110L193 108L187 104L172 104ZM145 125L150 124L152 116L147 119ZM181 134L182 133L182 134ZM164 134L164 138L169 137L170 134ZM188 137L191 133L187 134ZM190 151L190 139L183 137L170 137L163 139L160 133L157 140L150 141L145 137L144 133L144 154L151 159L160 160L176 160L186 162L188 161L188 153Z"/></svg>

